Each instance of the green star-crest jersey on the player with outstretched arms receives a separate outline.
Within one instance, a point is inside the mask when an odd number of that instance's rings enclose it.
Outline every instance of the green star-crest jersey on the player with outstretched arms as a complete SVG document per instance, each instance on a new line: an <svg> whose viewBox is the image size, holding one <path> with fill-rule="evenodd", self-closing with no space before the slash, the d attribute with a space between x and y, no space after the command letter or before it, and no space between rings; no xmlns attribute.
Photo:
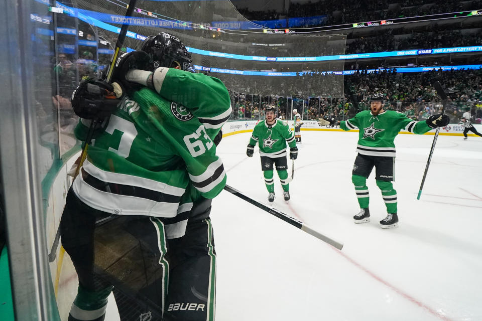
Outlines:
<svg viewBox="0 0 482 321"><path fill-rule="evenodd" d="M402 128L415 134L423 134L431 129L425 121L412 120L393 110L386 110L377 116L373 116L370 110L364 110L353 118L340 121L340 128L343 130L356 127L359 129L356 145L358 153L388 157L395 157L393 140Z"/></svg>

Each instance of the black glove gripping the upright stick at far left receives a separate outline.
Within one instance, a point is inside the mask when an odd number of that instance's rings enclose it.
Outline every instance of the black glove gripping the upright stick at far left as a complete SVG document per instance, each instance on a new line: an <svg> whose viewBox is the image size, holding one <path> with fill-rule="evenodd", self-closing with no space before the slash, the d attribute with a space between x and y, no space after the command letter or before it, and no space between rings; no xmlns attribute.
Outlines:
<svg viewBox="0 0 482 321"><path fill-rule="evenodd" d="M72 93L72 108L84 119L104 119L116 109L120 100L108 82L98 78L83 80Z"/></svg>

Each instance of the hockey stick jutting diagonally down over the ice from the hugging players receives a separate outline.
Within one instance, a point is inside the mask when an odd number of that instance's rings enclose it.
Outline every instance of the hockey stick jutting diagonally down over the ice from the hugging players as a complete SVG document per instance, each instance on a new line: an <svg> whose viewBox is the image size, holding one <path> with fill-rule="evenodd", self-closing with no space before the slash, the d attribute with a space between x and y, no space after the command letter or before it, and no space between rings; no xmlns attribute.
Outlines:
<svg viewBox="0 0 482 321"><path fill-rule="evenodd" d="M304 224L303 222L301 222L300 220L297 220L281 211L278 211L277 209L273 209L273 208L269 208L268 206L266 205L263 205L261 204L260 202L257 202L255 200L253 200L252 198L249 198L248 196L244 195L243 193L239 192L238 190L236 189L233 189L232 187L230 187L229 185L226 185L224 186L224 190L239 197L240 199L243 199L245 201L247 201L248 203L251 203L253 204L254 206L262 209L263 211L266 211L274 216L276 216L277 218L279 219L282 219L283 221L299 228L300 230L308 233L308 234L311 234L313 235L314 237L322 240L323 242L325 243L328 243L329 245L333 246L334 248L337 248L338 250L341 250L343 248L343 243L340 243L338 241L335 241L323 234L321 234L320 232L317 232L315 230L313 230L311 227L307 226L306 224Z"/></svg>

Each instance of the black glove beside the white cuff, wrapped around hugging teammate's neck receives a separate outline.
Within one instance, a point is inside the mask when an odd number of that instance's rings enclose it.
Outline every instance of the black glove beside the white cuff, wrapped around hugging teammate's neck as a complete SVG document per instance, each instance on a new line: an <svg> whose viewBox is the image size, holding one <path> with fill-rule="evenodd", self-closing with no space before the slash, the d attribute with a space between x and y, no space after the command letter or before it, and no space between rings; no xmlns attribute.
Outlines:
<svg viewBox="0 0 482 321"><path fill-rule="evenodd" d="M126 74L131 69L152 71L149 63L150 60L151 57L141 50L128 52L117 58L111 81L118 83L122 87L122 95L130 90L142 87L142 85L138 83L128 81ZM121 95L117 96L120 97Z"/></svg>

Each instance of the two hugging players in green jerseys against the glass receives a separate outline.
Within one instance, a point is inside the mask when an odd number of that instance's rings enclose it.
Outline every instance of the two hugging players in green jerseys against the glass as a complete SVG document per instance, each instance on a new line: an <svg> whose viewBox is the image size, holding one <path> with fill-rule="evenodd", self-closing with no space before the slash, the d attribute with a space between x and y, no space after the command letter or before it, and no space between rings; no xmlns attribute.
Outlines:
<svg viewBox="0 0 482 321"><path fill-rule="evenodd" d="M229 94L220 80L190 72L190 54L167 33L116 66L112 79L122 86L114 87L125 95L96 129L60 224L79 277L69 321L103 320L112 286L122 320L213 320L209 213L226 182L216 143ZM114 87L81 83L74 110L102 105ZM79 139L88 124L79 122Z"/></svg>

